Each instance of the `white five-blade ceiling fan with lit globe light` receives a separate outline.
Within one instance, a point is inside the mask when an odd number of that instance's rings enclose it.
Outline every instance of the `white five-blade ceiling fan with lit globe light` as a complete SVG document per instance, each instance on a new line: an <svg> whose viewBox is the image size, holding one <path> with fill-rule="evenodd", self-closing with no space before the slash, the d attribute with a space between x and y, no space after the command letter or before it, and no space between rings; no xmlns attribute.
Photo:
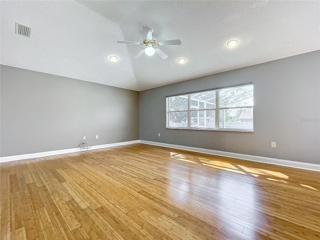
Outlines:
<svg viewBox="0 0 320 240"><path fill-rule="evenodd" d="M141 49L133 58L139 58L143 53L146 55L153 55L154 52L158 54L162 59L167 58L167 54L161 51L156 45L164 46L164 45L181 45L180 39L173 40L163 40L156 41L156 38L152 36L153 29L149 26L142 26L145 37L142 42L139 41L117 41L117 43L128 43L128 44L137 44L137 45L145 45L146 47Z"/></svg>

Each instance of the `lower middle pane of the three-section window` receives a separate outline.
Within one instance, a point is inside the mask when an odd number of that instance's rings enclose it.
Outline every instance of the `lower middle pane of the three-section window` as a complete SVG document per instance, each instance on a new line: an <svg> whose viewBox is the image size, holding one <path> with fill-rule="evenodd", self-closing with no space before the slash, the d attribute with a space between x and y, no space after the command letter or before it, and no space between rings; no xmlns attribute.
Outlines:
<svg viewBox="0 0 320 240"><path fill-rule="evenodd" d="M191 127L215 128L215 111L200 110L191 111Z"/></svg>

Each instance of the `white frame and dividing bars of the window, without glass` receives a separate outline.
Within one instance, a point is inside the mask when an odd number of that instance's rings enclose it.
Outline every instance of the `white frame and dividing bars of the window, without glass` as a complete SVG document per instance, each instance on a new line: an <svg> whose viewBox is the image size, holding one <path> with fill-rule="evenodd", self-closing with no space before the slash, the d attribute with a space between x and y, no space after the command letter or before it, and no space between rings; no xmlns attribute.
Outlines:
<svg viewBox="0 0 320 240"><path fill-rule="evenodd" d="M219 111L220 110L223 110L223 109L237 109L237 108L252 108L253 109L253 105L220 107L219 106L219 90L226 89L226 88L235 88L235 87L247 86L247 85L252 85L253 86L253 82L247 82L247 83L236 84L236 85L232 85L232 86L217 87L217 88L211 88L211 89L206 89L206 90L201 90L201 91L187 92L187 93L182 93L182 94L166 96L166 128L167 129L187 129L187 130L253 132L253 124L254 124L253 116L252 116L252 129L220 128L220 124L219 124ZM202 93L202 92L206 92L206 91L215 91L215 108L191 109L191 94ZM181 96L181 95L187 95L187 98L188 98L188 109L187 110L172 110L172 111L170 111L169 110L169 97ZM215 127L214 128L212 128L212 127L210 127L210 128L208 128L208 127L191 127L191 111L200 111L200 110L204 110L204 112L205 112L205 110L214 110L215 111ZM169 113L170 112L181 112L181 111L184 111L184 112L186 111L187 112L187 126L186 127L172 127L172 126L169 126ZM206 122L206 119L204 119L204 122Z"/></svg>

